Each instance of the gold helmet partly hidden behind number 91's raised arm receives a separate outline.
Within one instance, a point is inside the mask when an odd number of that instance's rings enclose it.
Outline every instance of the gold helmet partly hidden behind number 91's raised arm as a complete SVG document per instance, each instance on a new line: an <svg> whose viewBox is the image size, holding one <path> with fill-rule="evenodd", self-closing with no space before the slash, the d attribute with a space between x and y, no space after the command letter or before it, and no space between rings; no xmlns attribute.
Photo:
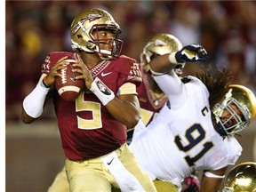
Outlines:
<svg viewBox="0 0 256 192"><path fill-rule="evenodd" d="M143 52L140 53L140 63L143 69L149 71L149 63L158 55L164 55L166 53L178 52L182 49L180 40L170 34L156 34L143 48ZM184 67L184 63L180 63Z"/></svg>

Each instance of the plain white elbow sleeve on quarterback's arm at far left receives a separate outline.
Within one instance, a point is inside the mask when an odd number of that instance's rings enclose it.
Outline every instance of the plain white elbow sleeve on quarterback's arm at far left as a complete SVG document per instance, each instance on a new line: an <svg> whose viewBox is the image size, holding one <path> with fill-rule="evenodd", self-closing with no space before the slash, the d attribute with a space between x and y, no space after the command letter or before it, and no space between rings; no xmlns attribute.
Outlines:
<svg viewBox="0 0 256 192"><path fill-rule="evenodd" d="M42 115L44 108L44 100L49 92L50 88L45 88L42 85L43 80L40 79L40 84L36 85L36 88L28 94L23 100L23 108L33 118L37 118Z"/></svg>

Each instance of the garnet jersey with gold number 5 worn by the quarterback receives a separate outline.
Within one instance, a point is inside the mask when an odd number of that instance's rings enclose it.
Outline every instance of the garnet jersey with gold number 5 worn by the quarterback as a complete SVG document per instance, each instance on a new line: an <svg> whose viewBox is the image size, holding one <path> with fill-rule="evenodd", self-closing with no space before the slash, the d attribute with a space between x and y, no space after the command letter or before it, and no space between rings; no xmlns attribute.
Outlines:
<svg viewBox="0 0 256 192"><path fill-rule="evenodd" d="M51 52L42 66L42 73L49 73L52 66L64 56L81 60L77 53ZM139 63L126 56L113 60L103 60L91 68L92 76L97 76L118 95L118 89L125 83L141 83ZM116 121L108 113L100 100L88 89L81 92L73 102L53 94L53 104L65 155L71 160L86 160L103 156L126 141L126 126Z"/></svg>

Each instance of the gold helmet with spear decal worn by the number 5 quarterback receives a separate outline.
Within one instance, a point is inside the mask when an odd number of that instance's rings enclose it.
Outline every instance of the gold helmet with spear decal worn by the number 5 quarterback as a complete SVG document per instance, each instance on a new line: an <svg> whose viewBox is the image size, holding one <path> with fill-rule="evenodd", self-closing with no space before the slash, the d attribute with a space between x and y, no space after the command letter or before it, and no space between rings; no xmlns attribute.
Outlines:
<svg viewBox="0 0 256 192"><path fill-rule="evenodd" d="M100 40L92 32L109 30L111 39ZM97 52L103 60L118 57L122 51L123 41L119 39L122 30L113 17L101 9L88 9L79 13L70 28L71 44L74 51ZM111 44L112 51L100 49L100 44Z"/></svg>

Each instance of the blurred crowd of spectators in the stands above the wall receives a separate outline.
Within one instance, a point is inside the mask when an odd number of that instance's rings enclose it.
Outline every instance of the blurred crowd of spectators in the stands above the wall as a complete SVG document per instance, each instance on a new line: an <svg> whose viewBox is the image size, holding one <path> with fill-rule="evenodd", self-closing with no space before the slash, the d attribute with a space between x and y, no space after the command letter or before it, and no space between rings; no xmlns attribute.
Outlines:
<svg viewBox="0 0 256 192"><path fill-rule="evenodd" d="M209 65L226 67L234 74L234 84L256 93L256 1L6 1L5 5L6 122L20 120L21 102L37 83L48 52L72 51L70 24L78 12L90 7L105 9L120 25L122 54L140 60L151 36L170 33L183 45L203 44ZM52 118L49 110L43 119Z"/></svg>

